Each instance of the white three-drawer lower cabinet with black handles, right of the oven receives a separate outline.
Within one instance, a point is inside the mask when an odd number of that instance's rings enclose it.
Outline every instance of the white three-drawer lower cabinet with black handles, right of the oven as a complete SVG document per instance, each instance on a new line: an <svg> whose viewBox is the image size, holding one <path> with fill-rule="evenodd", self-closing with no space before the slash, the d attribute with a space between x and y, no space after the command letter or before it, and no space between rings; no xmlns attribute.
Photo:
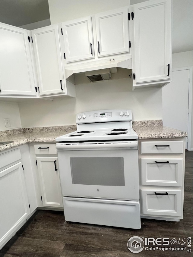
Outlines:
<svg viewBox="0 0 193 257"><path fill-rule="evenodd" d="M183 218L185 138L139 140L142 218Z"/></svg>

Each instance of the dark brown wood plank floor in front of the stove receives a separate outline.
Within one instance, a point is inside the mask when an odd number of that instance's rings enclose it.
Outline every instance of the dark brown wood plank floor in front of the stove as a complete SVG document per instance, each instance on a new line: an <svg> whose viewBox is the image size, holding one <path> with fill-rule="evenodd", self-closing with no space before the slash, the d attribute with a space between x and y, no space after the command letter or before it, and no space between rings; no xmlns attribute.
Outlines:
<svg viewBox="0 0 193 257"><path fill-rule="evenodd" d="M37 211L0 251L0 257L138 256L186 257L185 251L132 253L130 237L183 238L193 232L193 151L186 152L184 218L180 222L141 219L141 230L79 224L64 221L63 212ZM193 250L191 248L191 250Z"/></svg>

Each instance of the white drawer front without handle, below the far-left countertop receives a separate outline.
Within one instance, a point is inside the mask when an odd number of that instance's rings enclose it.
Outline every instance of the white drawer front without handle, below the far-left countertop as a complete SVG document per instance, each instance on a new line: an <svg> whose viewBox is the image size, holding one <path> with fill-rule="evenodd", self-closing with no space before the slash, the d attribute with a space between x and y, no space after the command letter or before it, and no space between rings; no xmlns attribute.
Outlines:
<svg viewBox="0 0 193 257"><path fill-rule="evenodd" d="M10 150L0 155L0 169L21 159L20 149Z"/></svg>

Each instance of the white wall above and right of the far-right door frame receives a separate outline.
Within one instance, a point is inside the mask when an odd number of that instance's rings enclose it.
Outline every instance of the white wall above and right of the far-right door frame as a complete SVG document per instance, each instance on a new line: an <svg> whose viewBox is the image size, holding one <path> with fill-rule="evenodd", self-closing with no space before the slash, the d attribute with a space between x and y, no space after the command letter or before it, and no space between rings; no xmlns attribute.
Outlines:
<svg viewBox="0 0 193 257"><path fill-rule="evenodd" d="M172 64L173 68L193 66L193 51L173 54L172 62L173 62ZM192 81L193 81L193 78L192 78ZM189 86L192 87L193 85L189 85ZM183 90L183 85L182 85L182 90ZM191 122L191 148L193 148L193 104L192 104L192 122Z"/></svg>

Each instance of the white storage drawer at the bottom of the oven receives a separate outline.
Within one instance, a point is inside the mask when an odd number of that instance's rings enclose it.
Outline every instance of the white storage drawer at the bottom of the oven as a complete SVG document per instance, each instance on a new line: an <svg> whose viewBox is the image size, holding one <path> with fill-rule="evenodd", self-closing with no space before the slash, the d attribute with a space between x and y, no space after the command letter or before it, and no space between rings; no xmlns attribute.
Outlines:
<svg viewBox="0 0 193 257"><path fill-rule="evenodd" d="M66 221L141 228L139 201L63 197L63 205Z"/></svg>

